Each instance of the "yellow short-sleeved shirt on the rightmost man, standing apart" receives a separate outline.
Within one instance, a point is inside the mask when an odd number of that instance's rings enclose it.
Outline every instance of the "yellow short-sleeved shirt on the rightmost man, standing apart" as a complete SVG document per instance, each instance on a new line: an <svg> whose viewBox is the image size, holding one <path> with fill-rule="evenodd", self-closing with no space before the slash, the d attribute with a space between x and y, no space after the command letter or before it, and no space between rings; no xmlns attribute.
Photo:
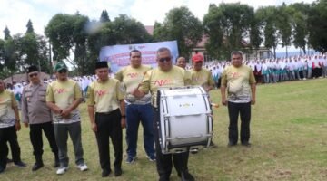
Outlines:
<svg viewBox="0 0 327 181"><path fill-rule="evenodd" d="M251 86L255 83L253 71L250 67L242 65L226 67L222 74L222 85L227 88L227 100L232 102L250 102Z"/></svg>

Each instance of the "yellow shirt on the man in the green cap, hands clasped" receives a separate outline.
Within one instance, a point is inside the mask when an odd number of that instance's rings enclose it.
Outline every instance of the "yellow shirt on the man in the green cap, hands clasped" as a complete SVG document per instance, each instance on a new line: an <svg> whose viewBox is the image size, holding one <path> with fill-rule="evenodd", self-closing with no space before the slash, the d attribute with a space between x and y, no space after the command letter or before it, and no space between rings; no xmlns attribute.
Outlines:
<svg viewBox="0 0 327 181"><path fill-rule="evenodd" d="M53 81L47 86L45 100L54 102L62 110L72 105L76 99L82 99L82 90L76 81ZM80 121L78 109L76 108L71 112L70 119L64 119L64 121L62 119L61 116L54 114L54 122L72 123Z"/></svg>

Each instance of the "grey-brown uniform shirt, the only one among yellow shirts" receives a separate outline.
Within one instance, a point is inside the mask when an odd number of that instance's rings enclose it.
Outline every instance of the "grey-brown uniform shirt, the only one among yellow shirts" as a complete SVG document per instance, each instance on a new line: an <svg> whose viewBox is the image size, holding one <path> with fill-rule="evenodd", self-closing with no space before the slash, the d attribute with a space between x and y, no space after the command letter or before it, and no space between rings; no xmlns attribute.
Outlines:
<svg viewBox="0 0 327 181"><path fill-rule="evenodd" d="M46 106L46 84L30 83L23 89L22 116L23 122L39 124L52 121L51 110Z"/></svg>

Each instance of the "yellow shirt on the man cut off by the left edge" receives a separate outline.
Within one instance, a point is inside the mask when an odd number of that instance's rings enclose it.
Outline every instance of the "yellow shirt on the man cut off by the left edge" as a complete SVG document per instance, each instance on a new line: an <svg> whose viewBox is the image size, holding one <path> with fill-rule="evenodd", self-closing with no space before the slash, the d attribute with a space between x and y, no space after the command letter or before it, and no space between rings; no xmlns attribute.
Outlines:
<svg viewBox="0 0 327 181"><path fill-rule="evenodd" d="M0 128L12 127L15 125L15 112L13 107L17 107L14 93L4 90L0 93Z"/></svg>

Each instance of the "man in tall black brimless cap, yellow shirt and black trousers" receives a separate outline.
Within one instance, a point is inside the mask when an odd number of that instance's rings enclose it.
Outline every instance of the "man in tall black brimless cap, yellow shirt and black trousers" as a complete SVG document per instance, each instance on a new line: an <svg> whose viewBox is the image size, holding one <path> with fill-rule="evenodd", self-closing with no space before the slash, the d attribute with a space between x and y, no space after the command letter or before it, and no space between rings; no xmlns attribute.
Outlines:
<svg viewBox="0 0 327 181"><path fill-rule="evenodd" d="M109 79L107 62L96 62L95 73L98 80L89 85L86 103L99 149L100 165L103 169L102 176L106 177L111 173L109 138L112 139L114 146L114 176L121 176L122 128L125 127L124 92L118 80Z"/></svg>

